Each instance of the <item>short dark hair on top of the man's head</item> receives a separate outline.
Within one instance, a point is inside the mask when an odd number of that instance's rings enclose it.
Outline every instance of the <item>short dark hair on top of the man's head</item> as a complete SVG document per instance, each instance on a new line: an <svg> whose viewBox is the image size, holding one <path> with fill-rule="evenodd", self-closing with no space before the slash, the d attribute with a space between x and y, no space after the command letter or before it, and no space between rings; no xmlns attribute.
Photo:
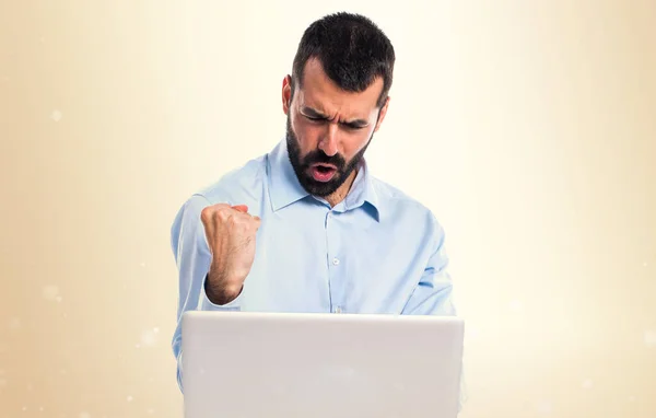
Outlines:
<svg viewBox="0 0 656 418"><path fill-rule="evenodd" d="M377 106L387 100L396 57L385 33L370 19L338 12L312 23L294 57L292 94L295 86L303 86L303 71L311 58L318 59L326 74L345 91L362 92L382 77Z"/></svg>

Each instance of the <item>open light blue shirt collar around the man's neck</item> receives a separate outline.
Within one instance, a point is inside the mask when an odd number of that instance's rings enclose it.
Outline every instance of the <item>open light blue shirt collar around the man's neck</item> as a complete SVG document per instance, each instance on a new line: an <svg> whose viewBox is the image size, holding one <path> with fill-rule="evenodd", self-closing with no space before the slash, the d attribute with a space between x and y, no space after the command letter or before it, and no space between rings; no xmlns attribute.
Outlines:
<svg viewBox="0 0 656 418"><path fill-rule="evenodd" d="M269 196L273 211L278 211L309 196L296 177L294 167L289 159L286 140L284 138L269 152L267 169L270 178ZM347 211L359 208L364 204L371 206L373 211L370 211L370 213L379 221L380 205L378 195L368 172L367 163L363 159L349 195L335 209L341 208L342 211Z"/></svg>

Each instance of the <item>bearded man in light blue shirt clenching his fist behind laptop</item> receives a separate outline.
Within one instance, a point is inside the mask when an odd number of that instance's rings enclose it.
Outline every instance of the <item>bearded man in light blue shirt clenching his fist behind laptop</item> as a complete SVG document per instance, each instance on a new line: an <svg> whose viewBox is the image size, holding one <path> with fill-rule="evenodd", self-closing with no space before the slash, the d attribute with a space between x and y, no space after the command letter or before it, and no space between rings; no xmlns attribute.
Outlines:
<svg viewBox="0 0 656 418"><path fill-rule="evenodd" d="M456 314L442 227L363 156L389 107L394 62L366 18L313 23L283 80L285 138L177 213L180 390L187 310Z"/></svg>

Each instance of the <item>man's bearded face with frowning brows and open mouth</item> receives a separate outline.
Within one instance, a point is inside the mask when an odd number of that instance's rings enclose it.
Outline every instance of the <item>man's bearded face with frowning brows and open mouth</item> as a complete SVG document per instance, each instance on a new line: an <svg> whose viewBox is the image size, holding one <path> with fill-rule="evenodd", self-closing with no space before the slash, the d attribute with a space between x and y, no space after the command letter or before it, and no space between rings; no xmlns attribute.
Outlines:
<svg viewBox="0 0 656 418"><path fill-rule="evenodd" d="M376 102L383 80L361 93L344 92L324 72L317 60L305 67L303 89L291 96L290 79L283 84L283 109L290 162L301 185L312 195L327 197L350 187L367 146L378 129L387 103Z"/></svg>

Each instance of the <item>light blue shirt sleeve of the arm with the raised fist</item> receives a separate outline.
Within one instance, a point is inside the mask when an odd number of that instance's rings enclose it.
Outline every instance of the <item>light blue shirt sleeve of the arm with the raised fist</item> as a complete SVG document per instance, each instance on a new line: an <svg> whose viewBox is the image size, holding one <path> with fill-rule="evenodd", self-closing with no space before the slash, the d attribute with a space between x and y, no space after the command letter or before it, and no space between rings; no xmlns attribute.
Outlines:
<svg viewBox="0 0 656 418"><path fill-rule="evenodd" d="M177 325L173 335L173 353L177 361L177 382L183 387L181 324L187 311L238 311L242 293L225 305L212 303L204 292L204 281L212 256L206 240L200 212L210 201L191 196L179 209L171 229L171 246L178 272Z"/></svg>

